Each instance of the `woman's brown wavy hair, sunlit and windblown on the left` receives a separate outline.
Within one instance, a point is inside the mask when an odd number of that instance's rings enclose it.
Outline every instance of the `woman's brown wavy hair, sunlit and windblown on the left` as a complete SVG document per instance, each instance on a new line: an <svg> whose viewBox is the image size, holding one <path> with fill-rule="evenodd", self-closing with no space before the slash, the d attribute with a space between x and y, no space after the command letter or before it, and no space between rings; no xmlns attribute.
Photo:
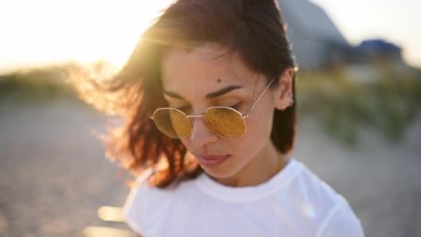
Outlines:
<svg viewBox="0 0 421 237"><path fill-rule="evenodd" d="M157 107L168 106L161 85L165 51L172 47L190 50L210 42L223 46L225 53L238 53L268 82L295 66L276 1L178 0L145 30L116 75L98 80L84 73L71 80L82 99L102 112L123 117L122 125L107 134L107 157L135 176L152 170L148 179L152 186L165 188L203 172L195 159L186 156L183 143L159 132L150 116ZM271 141L284 154L292 150L295 137L294 80L292 85L294 105L274 112L271 131Z"/></svg>

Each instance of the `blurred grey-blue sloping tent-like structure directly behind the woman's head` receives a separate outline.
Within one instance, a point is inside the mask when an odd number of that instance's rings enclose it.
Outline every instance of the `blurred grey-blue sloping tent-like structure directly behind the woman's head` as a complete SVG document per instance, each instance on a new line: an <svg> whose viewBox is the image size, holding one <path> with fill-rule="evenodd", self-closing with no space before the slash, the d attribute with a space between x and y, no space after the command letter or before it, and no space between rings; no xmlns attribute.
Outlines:
<svg viewBox="0 0 421 237"><path fill-rule="evenodd" d="M325 67L348 58L352 47L321 7L307 0L278 3L301 69Z"/></svg>

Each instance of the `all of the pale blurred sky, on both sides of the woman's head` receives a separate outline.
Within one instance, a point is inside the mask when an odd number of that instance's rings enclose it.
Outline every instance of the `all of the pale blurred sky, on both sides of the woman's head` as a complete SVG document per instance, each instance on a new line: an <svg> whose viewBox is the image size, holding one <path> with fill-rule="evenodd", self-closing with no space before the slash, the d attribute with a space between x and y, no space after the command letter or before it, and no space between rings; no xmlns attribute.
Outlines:
<svg viewBox="0 0 421 237"><path fill-rule="evenodd" d="M119 67L142 30L171 0L0 1L0 71L99 58ZM421 67L421 1L312 0L350 44L381 37L404 48Z"/></svg>

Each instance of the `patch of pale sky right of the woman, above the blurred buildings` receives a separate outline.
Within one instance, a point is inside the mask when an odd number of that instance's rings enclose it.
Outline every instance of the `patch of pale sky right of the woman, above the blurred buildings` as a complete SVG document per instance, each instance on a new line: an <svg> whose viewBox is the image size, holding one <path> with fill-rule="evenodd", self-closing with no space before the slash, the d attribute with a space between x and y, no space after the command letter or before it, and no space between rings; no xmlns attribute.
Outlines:
<svg viewBox="0 0 421 237"><path fill-rule="evenodd" d="M420 0L312 0L348 42L383 38L403 48L404 60L421 68Z"/></svg>

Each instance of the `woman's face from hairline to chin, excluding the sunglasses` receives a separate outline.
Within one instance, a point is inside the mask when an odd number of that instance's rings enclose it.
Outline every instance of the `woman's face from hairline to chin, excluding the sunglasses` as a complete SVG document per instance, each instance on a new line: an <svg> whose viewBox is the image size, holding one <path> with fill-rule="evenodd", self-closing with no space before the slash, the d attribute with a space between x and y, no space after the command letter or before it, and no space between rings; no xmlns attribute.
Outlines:
<svg viewBox="0 0 421 237"><path fill-rule="evenodd" d="M166 53L161 73L164 97L170 107L180 108L189 115L203 114L211 106L233 107L242 114L249 112L267 86L267 79L246 67L238 55L219 57L223 52L224 49L215 44L206 44L193 51L174 48ZM231 90L223 90L228 87ZM279 89L265 91L247 119L247 132L240 139L219 137L206 127L203 118L195 118L192 132L181 141L208 175L231 177L270 143L274 108L280 106L279 96ZM217 164L220 162L215 159L224 161Z"/></svg>

